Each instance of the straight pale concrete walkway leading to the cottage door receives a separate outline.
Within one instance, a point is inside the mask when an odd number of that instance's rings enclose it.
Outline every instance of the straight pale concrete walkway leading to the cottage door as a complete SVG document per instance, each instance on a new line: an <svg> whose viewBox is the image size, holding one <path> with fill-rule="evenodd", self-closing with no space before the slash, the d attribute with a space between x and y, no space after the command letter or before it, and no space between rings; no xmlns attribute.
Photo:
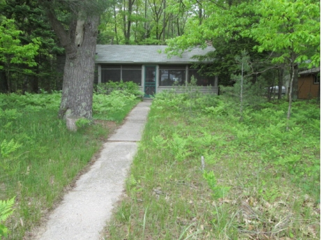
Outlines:
<svg viewBox="0 0 321 240"><path fill-rule="evenodd" d="M76 187L64 196L47 221L40 240L98 240L113 204L124 190L130 163L137 151L151 100L139 103L125 123L103 145L100 157Z"/></svg>

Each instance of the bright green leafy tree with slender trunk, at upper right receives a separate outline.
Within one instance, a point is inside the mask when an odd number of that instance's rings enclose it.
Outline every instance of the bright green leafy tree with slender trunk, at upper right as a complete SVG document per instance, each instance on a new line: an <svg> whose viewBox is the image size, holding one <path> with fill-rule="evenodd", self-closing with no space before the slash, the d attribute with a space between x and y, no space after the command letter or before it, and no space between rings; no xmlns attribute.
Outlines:
<svg viewBox="0 0 321 240"><path fill-rule="evenodd" d="M290 68L288 119L291 114L294 77L299 63L320 66L320 2L306 0L262 0L253 8L260 21L243 36L255 39L258 52L277 52L272 63L286 63Z"/></svg>

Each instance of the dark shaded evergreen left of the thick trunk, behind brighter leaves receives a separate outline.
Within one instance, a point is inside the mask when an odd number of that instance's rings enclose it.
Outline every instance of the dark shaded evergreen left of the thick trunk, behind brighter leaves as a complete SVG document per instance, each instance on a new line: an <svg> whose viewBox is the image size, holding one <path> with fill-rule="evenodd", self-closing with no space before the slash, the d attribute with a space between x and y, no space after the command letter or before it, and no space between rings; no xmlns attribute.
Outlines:
<svg viewBox="0 0 321 240"><path fill-rule="evenodd" d="M59 89L61 84L57 84L57 56L64 54L64 50L57 45L58 40L52 31L50 24L45 17L43 9L36 0L6 0L0 3L0 11L3 17L15 22L15 29L20 31L17 39L20 45L33 43L37 38L39 42L38 54L35 55L34 66L24 66L29 69L29 73L19 70L22 66L13 63L12 68L18 70L13 73L11 80L12 91L38 92L39 89L50 91ZM58 57L58 58L59 58ZM62 77L61 77L62 78ZM6 77L1 77L5 80Z"/></svg>

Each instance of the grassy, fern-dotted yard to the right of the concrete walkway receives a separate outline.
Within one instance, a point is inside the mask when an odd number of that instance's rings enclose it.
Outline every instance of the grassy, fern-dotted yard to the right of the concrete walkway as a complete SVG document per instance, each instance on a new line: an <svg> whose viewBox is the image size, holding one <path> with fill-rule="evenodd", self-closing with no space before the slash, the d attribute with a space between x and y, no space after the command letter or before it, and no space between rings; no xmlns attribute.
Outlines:
<svg viewBox="0 0 321 240"><path fill-rule="evenodd" d="M158 93L103 238L320 239L320 104L287 110Z"/></svg>

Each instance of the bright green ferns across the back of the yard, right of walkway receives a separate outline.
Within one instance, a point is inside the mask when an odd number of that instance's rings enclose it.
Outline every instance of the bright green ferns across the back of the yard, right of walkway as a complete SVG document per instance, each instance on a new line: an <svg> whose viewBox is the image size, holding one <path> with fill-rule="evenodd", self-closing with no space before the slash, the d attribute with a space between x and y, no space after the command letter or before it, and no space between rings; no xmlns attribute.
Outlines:
<svg viewBox="0 0 321 240"><path fill-rule="evenodd" d="M226 124L220 126L228 130L229 134L209 135L204 130L195 137L185 137L186 130L179 128L181 133L175 131L171 138L164 139L161 136L153 137L153 142L160 149L170 151L174 159L199 158L211 150L202 150L202 147L215 147L215 156L229 153L235 149L247 152L255 149L256 157L262 163L272 163L275 166L293 175L294 181L304 177L318 179L318 158L320 149L320 109L313 104L303 102L294 103L294 112L290 121L290 130L286 130L288 121L286 111L288 103L248 103L244 110L243 121L239 122L239 108L235 107L234 98L227 96L215 96L204 104L208 96L200 96L195 106L184 94L170 92L159 93L154 103L158 111L171 111L189 116L189 123L197 123L195 119L207 116L211 119L224 119ZM212 106L208 106L212 103ZM184 125L178 125L184 126ZM179 133L179 134L178 134ZM227 136L233 139L227 141ZM314 183L311 182L311 187Z"/></svg>

